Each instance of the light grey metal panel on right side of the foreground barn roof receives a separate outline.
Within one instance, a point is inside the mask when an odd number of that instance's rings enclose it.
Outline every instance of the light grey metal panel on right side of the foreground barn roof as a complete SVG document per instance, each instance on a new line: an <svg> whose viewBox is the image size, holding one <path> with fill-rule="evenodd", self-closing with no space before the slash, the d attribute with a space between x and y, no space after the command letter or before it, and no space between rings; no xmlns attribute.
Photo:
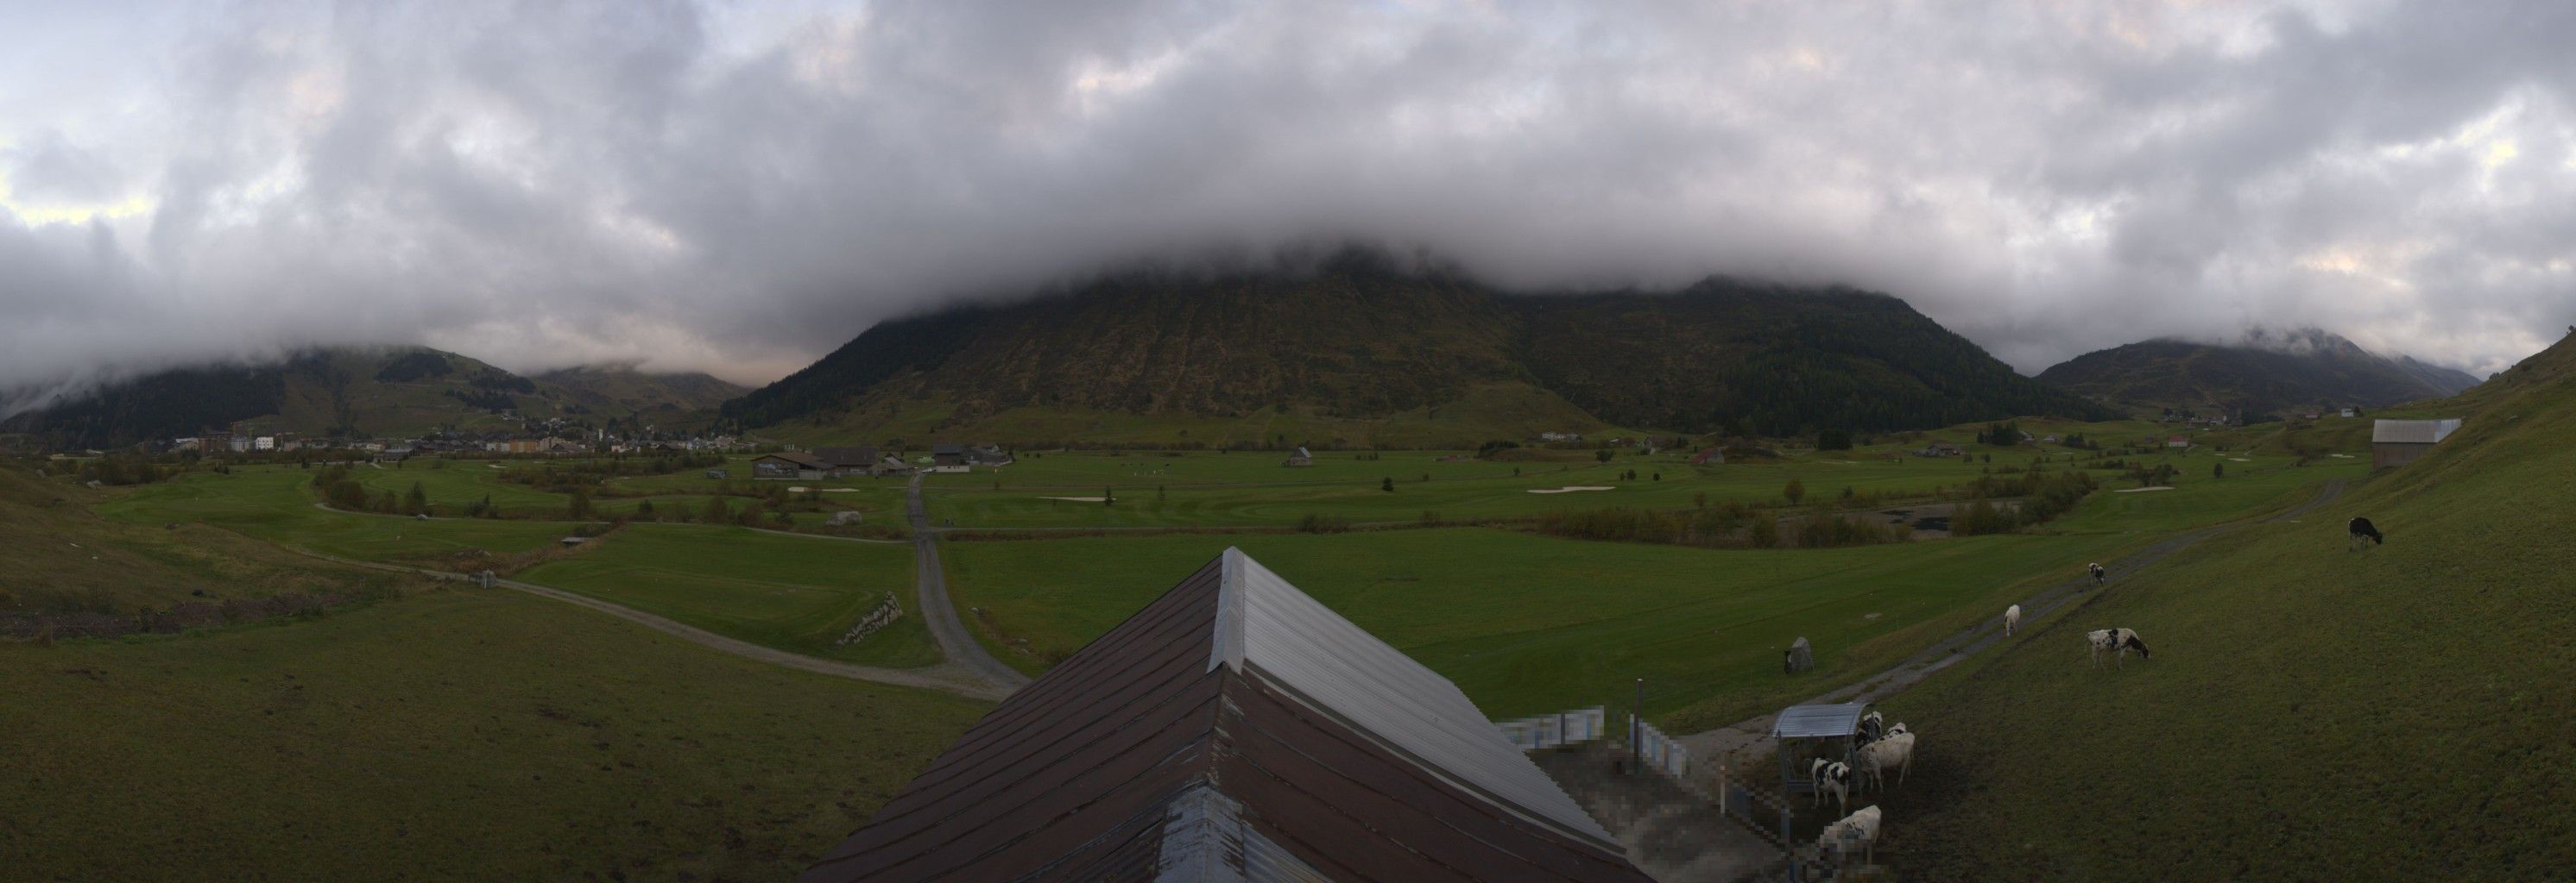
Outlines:
<svg viewBox="0 0 2576 883"><path fill-rule="evenodd" d="M1224 659L1211 656L1208 667L1252 664L1497 806L1566 834L1618 842L1448 677L1298 592L1242 548L1226 548L1221 561L1226 574L1216 605L1229 615L1216 620L1216 651Z"/></svg>

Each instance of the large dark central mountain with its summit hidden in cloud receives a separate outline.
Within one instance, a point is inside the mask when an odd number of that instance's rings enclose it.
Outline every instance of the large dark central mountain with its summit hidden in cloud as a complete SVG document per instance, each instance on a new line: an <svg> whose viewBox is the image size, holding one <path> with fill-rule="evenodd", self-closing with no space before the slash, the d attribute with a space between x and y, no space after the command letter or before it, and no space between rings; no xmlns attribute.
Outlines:
<svg viewBox="0 0 2576 883"><path fill-rule="evenodd" d="M775 435L1406 443L1546 430L1940 427L2102 409L1899 299L1710 278L1510 296L1345 252L1314 270L1118 273L881 322L724 404ZM1182 432L1188 430L1188 432Z"/></svg>

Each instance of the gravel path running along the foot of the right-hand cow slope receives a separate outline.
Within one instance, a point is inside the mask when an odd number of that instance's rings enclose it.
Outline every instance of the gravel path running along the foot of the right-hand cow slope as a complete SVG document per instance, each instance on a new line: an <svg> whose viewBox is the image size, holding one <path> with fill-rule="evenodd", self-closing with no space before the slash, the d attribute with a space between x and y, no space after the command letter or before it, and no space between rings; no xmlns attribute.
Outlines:
<svg viewBox="0 0 2576 883"><path fill-rule="evenodd" d="M2272 517L2264 517L2264 520L2241 520L2241 523L2226 523L2226 525L2210 525L2210 528L2195 528L2195 530L2174 533L2169 538L2156 541L2154 546L2146 546L2146 548L2130 553L2128 559L2117 559L2117 561L2105 564L2105 569L2110 572L2112 582L2117 582L2120 577L2136 574L2136 572L2141 572L2141 569L2146 569L2146 566L2151 566L2156 561L2169 559L2177 551L2192 548L2195 543L2200 543L2205 538L2213 538L2213 535L2221 535L2221 533L2233 533L2233 530L2241 530L2246 525L2264 525L2264 523L2295 520L2295 517L2300 517L2300 515L2306 515L2306 512L2311 512L2311 510L2316 510L2316 507L2321 507L2326 502L2334 502L2334 497L2342 497L2342 494L2344 494L2344 481L2342 479L2326 481L2324 487L2316 489L2313 499L2300 502L2300 505L2295 505L2295 507L2290 507L2285 512L2277 512ZM2050 615L2056 610L2076 605L2081 597L2087 597L2084 595L2087 587L2092 587L2092 577L2076 577L2076 579L2066 579L2061 584L2053 584L2053 587L2043 590L2040 595L2032 595L2030 600L2022 602L2022 626L2025 628L2035 626L2043 615ZM2105 584L2105 590L2107 590L2107 584ZM2094 592L2094 597L2099 597L2099 592ZM1994 646L1996 641L2004 641L2002 615L1978 620L1968 631L1960 631L1960 633L1947 636L1947 638L1942 638L1942 641L1937 641L1932 646L1924 646L1914 656L1906 656L1904 662L1899 662L1893 669L1870 674L1868 680L1862 680L1857 685L1847 685L1847 687L1832 690L1832 692L1811 698L1811 700L1806 700L1801 705L1811 705L1811 703L1880 703L1880 700L1886 700L1886 698L1891 698L1896 692L1904 692L1906 687L1922 682L1924 677L1932 677L1932 672L1947 669L1947 667L1958 664L1960 659L1968 659L1971 654ZM1718 757L1728 757L1728 754L1749 754L1749 757L1767 759L1770 752L1772 752L1772 739L1770 739L1772 718L1777 718L1777 716L1767 713L1767 716L1736 721L1736 723L1728 723L1728 726L1721 726L1721 729L1710 729L1710 731L1700 731L1700 734L1687 734L1687 736L1680 736L1680 741L1682 741L1682 747L1690 749L1692 757L1718 759ZM1757 770L1762 770L1762 767L1757 767Z"/></svg>

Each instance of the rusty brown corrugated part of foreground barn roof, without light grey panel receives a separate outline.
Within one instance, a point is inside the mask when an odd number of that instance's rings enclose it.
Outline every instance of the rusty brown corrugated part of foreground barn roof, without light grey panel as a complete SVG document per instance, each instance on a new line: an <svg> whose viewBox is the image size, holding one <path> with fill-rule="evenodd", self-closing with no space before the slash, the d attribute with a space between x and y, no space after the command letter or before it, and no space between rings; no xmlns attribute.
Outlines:
<svg viewBox="0 0 2576 883"><path fill-rule="evenodd" d="M1224 561L987 713L801 880L1646 880L1260 656L1211 664Z"/></svg>

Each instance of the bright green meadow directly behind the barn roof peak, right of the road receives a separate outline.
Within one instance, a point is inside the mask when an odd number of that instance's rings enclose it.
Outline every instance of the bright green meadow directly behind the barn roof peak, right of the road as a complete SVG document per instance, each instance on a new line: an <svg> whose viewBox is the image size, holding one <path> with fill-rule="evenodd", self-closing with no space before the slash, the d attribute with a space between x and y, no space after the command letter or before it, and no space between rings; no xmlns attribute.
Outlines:
<svg viewBox="0 0 2576 883"><path fill-rule="evenodd" d="M1038 672L1226 546L1510 718L1623 700L1674 731L1772 711L1965 628L2087 561L2311 494L2326 469L2097 492L2076 528L1860 548L1677 548L1497 528L1337 535L1105 535L943 546L948 584L997 656ZM2259 499L2257 499L2259 497ZM1780 674L1806 636L1816 669ZM1025 644L1020 644L1025 641Z"/></svg>

